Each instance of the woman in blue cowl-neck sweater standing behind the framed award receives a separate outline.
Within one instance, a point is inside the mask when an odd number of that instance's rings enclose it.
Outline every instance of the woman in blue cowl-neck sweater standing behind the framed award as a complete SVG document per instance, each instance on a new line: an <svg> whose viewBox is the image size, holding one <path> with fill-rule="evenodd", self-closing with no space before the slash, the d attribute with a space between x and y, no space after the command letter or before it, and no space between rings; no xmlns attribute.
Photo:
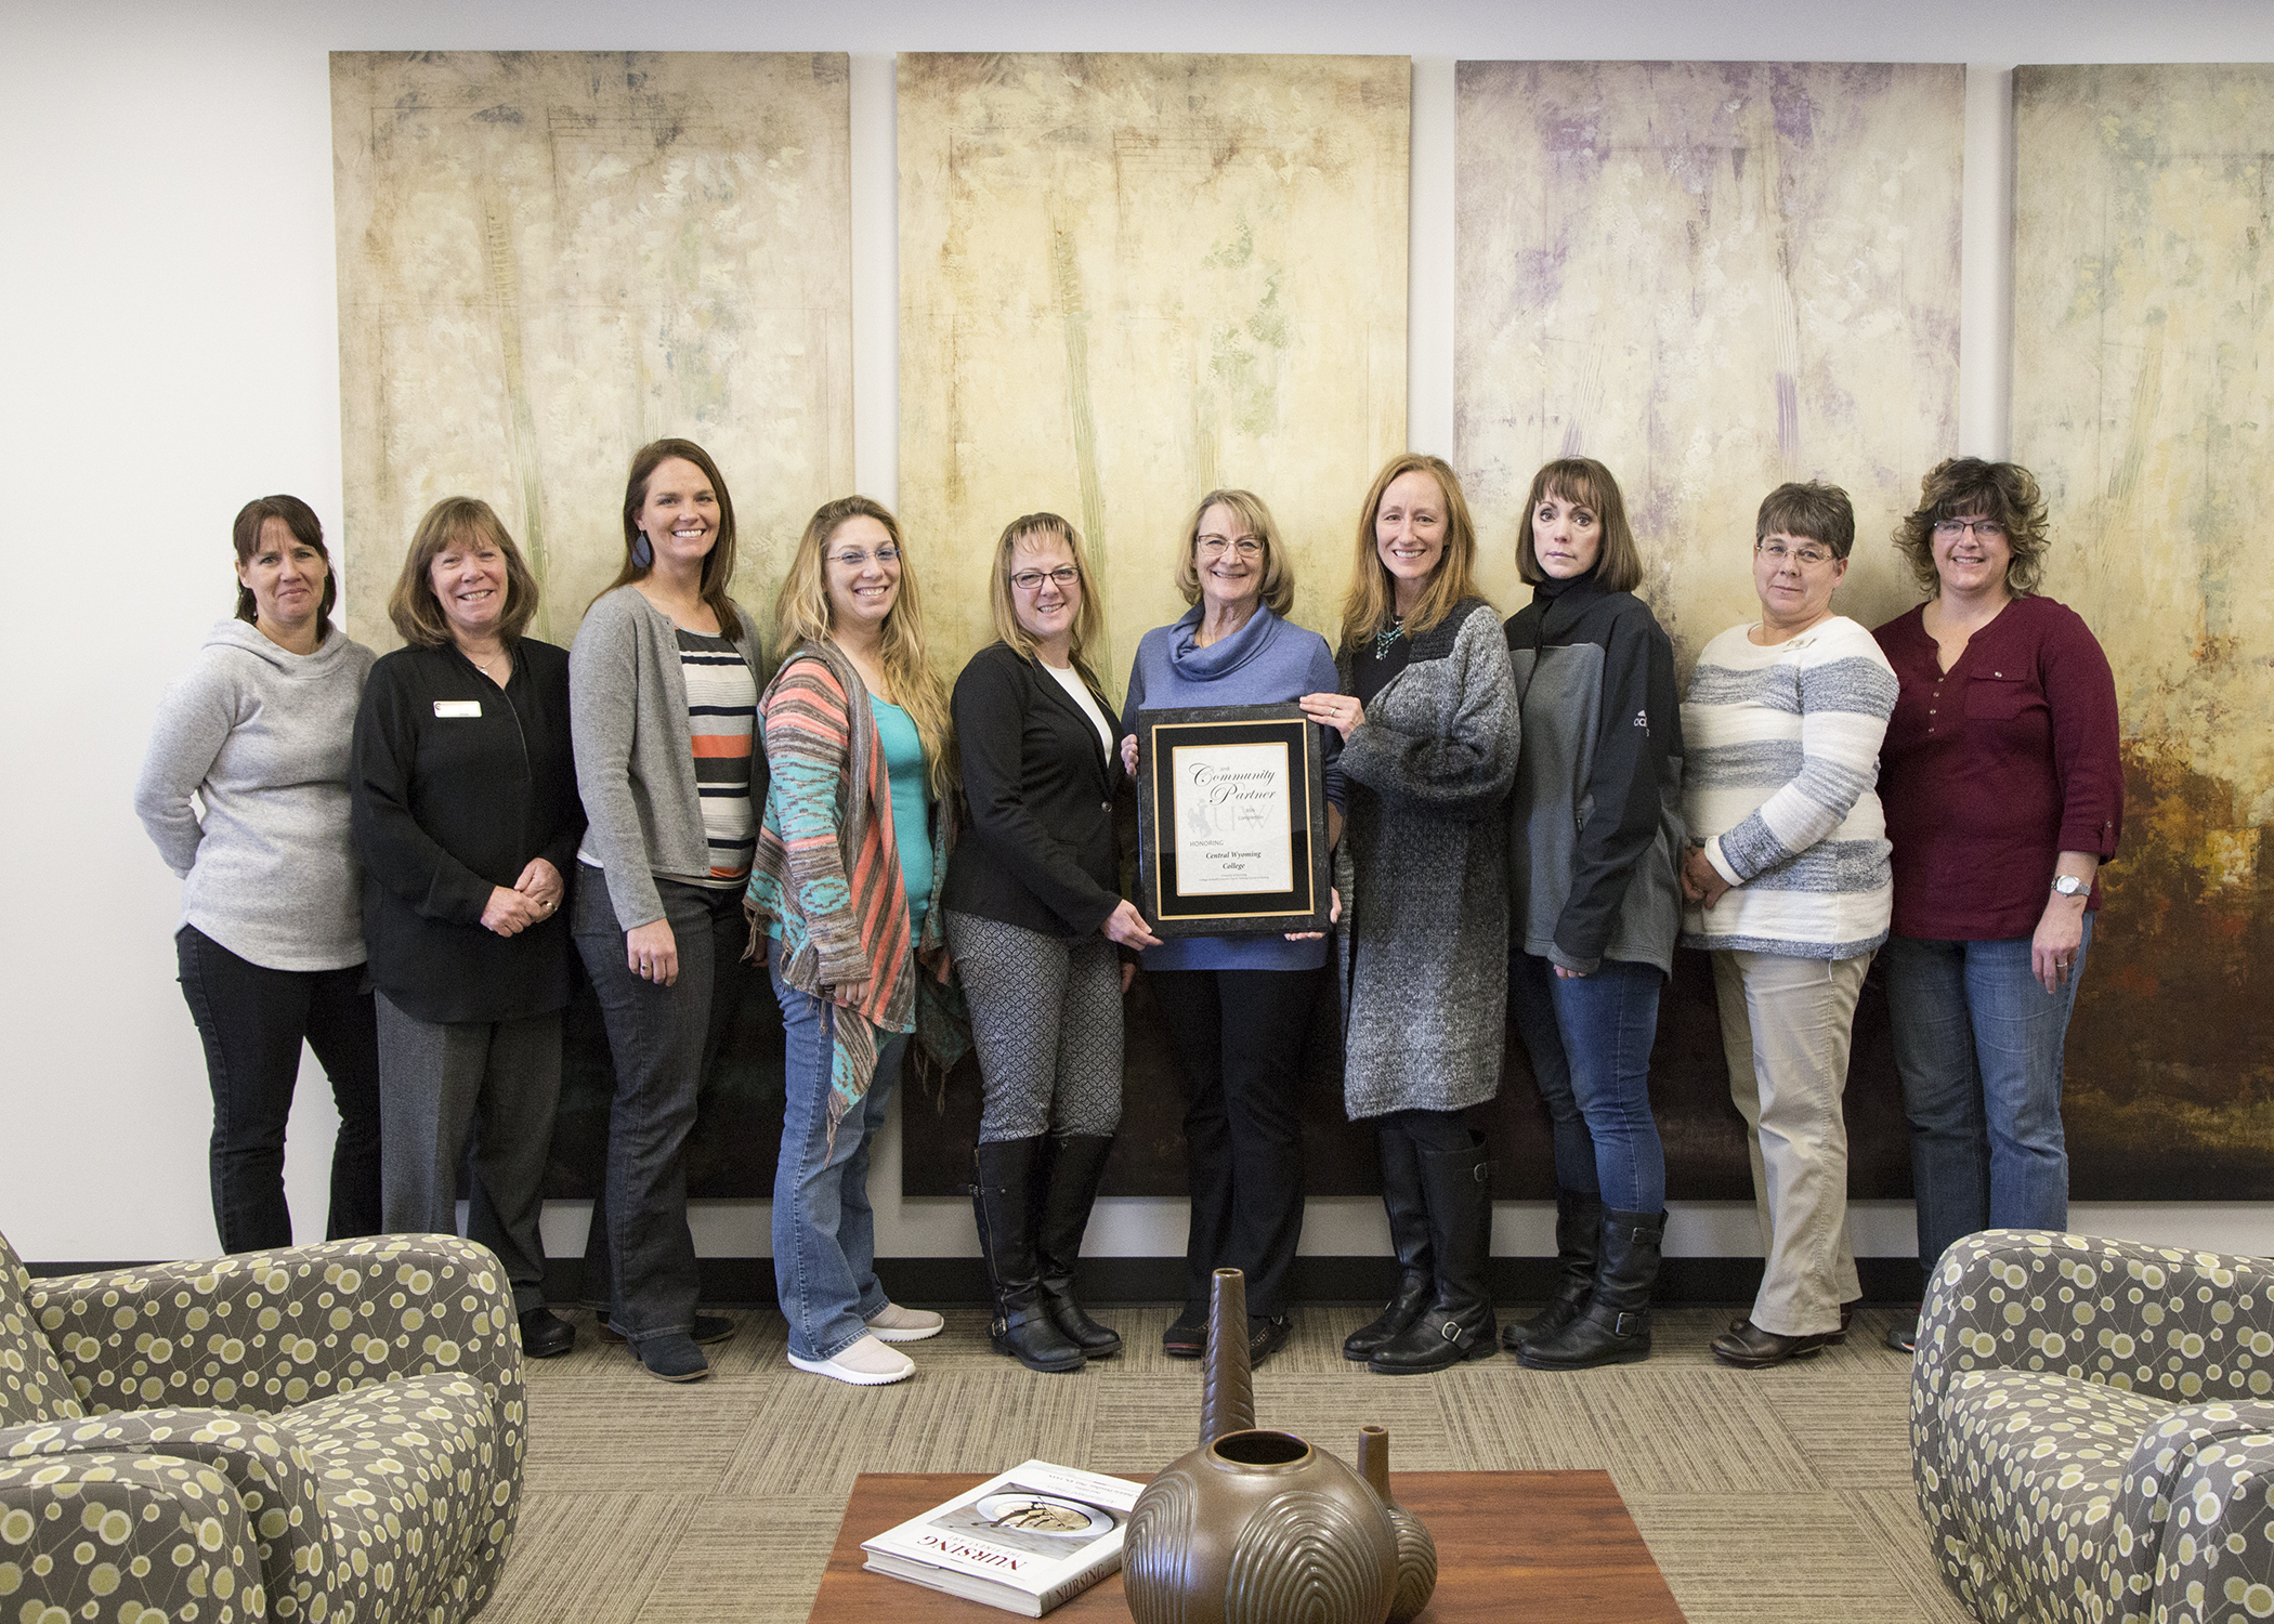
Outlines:
<svg viewBox="0 0 2274 1624"><path fill-rule="evenodd" d="M1137 716L1148 707L1287 705L1335 680L1326 639L1283 619L1294 607L1294 564L1262 498L1201 498L1185 525L1176 587L1192 610L1146 632L1130 664L1121 712L1130 773L1139 767ZM1323 751L1330 807L1342 805L1339 744L1330 735ZM1162 1335L1162 1351L1207 1351L1207 1287L1230 1267L1248 1278L1248 1353L1260 1360L1292 1328L1287 1278L1303 1233L1298 1058L1326 939L1192 935L1148 946L1142 962L1162 1008L1178 1012L1169 1044L1189 1089L1185 1312Z"/></svg>

